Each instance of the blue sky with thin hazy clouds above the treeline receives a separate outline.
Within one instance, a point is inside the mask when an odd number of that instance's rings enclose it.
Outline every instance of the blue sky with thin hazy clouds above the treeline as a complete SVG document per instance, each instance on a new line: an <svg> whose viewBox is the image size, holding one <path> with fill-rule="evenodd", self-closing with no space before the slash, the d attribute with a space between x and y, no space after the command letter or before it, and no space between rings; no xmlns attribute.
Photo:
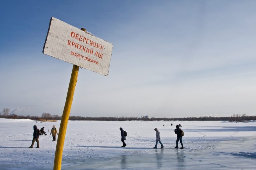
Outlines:
<svg viewBox="0 0 256 170"><path fill-rule="evenodd" d="M256 1L1 1L0 111L62 115L72 64L42 53L51 17L114 44L79 69L70 116L256 114Z"/></svg>

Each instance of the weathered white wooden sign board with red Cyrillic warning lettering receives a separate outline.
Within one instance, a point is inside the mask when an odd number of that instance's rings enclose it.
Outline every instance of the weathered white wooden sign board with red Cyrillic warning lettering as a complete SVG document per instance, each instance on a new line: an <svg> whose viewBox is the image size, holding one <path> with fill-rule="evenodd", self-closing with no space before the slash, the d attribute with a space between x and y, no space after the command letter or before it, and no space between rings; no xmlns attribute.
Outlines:
<svg viewBox="0 0 256 170"><path fill-rule="evenodd" d="M113 44L52 17L43 53L108 75Z"/></svg>

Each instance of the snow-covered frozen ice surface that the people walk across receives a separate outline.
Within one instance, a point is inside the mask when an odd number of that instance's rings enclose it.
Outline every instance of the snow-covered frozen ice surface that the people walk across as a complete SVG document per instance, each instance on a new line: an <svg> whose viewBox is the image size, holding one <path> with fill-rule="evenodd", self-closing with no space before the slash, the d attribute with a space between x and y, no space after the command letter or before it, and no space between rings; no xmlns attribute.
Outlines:
<svg viewBox="0 0 256 170"><path fill-rule="evenodd" d="M171 123L174 126L171 126ZM176 149L175 125L184 131L184 149ZM33 126L45 127L40 148L33 148ZM60 121L0 118L0 169L53 169L56 142L48 134ZM127 131L127 146L121 147L119 128ZM163 149L153 149L155 131L160 131ZM104 122L69 121L62 169L256 169L256 123L205 122ZM180 147L180 143L179 143Z"/></svg>

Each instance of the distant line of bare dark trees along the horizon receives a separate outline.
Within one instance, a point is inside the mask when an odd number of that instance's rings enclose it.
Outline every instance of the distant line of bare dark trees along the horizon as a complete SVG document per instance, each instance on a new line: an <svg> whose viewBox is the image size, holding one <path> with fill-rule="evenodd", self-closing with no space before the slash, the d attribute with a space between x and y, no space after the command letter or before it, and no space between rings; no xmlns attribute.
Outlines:
<svg viewBox="0 0 256 170"><path fill-rule="evenodd" d="M1 114L0 118L8 119L31 119L36 121L50 121L50 120L61 120L62 116L51 115L49 113L43 113L42 116L19 116L16 114ZM70 116L71 121L250 121L256 120L256 116L246 116L245 114L236 114L231 117L187 117L187 118L141 118L141 117L81 117L81 116Z"/></svg>

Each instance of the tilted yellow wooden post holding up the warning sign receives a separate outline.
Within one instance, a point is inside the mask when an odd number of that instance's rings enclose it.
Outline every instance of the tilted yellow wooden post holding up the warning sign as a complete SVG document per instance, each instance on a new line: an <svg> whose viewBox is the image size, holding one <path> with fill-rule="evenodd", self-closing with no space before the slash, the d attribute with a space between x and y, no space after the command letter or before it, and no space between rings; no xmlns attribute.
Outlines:
<svg viewBox="0 0 256 170"><path fill-rule="evenodd" d="M81 30L86 32L84 28L81 28ZM70 82L68 86L67 98L66 98L66 102L65 102L61 122L60 122L60 129L59 129L58 140L57 140L57 145L55 150L55 157L54 157L54 166L53 166L54 170L61 169L63 146L64 146L65 135L66 135L67 126L68 126L68 118L69 118L73 96L76 88L78 71L79 71L79 66L73 65Z"/></svg>

